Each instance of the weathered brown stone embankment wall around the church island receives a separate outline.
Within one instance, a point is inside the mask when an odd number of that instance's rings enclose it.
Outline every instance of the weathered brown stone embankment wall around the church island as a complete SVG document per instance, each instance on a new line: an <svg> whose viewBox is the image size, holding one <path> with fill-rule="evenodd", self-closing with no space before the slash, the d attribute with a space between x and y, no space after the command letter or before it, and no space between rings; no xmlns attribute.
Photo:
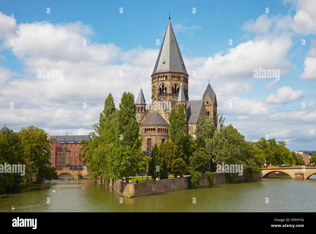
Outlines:
<svg viewBox="0 0 316 234"><path fill-rule="evenodd" d="M212 173L213 174L213 183L222 184L228 183L229 177L227 173ZM280 172L280 174L284 174ZM271 173L269 176L279 175ZM256 178L261 178L261 175L257 175ZM166 180L151 180L138 183L126 184L122 180L110 180L109 186L118 192L119 194L125 197L139 197L144 195L156 194L156 193L165 193L175 190L182 190L189 188L191 176L182 176L177 178L169 178ZM243 175L237 176L234 178L234 181L245 180ZM209 180L207 174L204 174L201 182L197 187L209 186Z"/></svg>

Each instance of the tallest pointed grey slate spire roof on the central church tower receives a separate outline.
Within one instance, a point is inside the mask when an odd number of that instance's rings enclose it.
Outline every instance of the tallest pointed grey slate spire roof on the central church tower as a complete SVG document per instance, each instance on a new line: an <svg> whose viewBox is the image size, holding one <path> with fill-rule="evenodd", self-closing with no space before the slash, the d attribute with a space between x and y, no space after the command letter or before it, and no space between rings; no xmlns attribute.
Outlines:
<svg viewBox="0 0 316 234"><path fill-rule="evenodd" d="M170 20L151 75L162 72L185 73L188 75Z"/></svg>

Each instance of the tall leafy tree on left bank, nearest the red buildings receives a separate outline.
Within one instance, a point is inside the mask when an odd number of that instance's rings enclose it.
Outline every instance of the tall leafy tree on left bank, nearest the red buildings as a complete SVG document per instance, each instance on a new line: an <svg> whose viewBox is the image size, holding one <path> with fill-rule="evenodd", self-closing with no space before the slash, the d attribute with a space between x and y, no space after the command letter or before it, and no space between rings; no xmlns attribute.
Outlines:
<svg viewBox="0 0 316 234"><path fill-rule="evenodd" d="M21 141L25 161L26 174L24 179L30 184L42 183L49 171L50 152L48 134L33 125L21 128Z"/></svg>

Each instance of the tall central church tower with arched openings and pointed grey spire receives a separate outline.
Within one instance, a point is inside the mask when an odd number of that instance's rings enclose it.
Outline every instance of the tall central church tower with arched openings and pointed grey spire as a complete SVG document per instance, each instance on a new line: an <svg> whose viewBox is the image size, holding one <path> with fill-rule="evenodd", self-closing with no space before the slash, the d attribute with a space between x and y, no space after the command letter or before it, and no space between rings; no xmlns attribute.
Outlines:
<svg viewBox="0 0 316 234"><path fill-rule="evenodd" d="M154 71L151 74L151 98L158 96L171 109L176 107L182 82L185 99L188 101L188 78L189 74L185 69L169 17L165 37L161 43Z"/></svg>

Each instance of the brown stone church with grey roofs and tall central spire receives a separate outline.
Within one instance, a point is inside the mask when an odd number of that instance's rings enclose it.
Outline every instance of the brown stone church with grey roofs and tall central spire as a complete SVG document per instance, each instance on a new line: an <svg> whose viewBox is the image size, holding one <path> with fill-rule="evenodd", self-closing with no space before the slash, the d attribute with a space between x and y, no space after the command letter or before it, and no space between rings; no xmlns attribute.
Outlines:
<svg viewBox="0 0 316 234"><path fill-rule="evenodd" d="M170 17L158 58L151 74L151 100L147 104L142 88L136 101L136 119L143 136L143 151L169 141L169 115L173 108L184 105L186 135L194 136L200 116L215 119L217 115L216 94L210 83L201 100L189 101L189 74L171 26Z"/></svg>

